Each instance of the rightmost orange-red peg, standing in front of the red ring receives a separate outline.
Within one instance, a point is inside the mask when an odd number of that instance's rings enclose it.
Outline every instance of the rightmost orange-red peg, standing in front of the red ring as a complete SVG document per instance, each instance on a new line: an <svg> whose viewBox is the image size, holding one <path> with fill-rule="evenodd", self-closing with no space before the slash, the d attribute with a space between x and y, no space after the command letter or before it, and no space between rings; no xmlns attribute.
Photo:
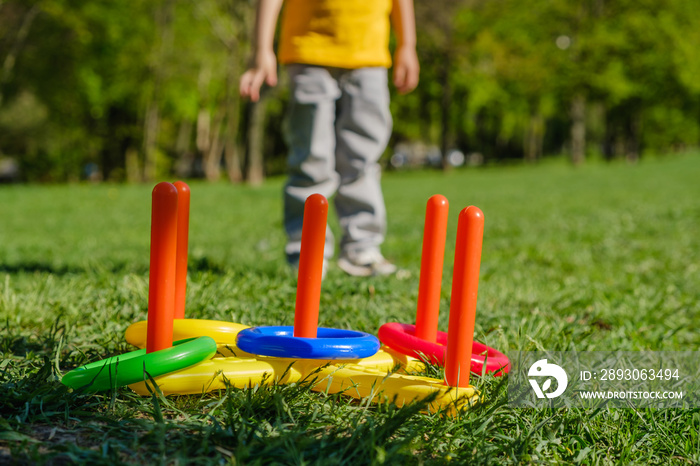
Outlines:
<svg viewBox="0 0 700 466"><path fill-rule="evenodd" d="M475 206L462 210L457 225L450 323L447 330L447 354L445 355L445 383L450 387L469 386L483 237L483 212Z"/></svg>

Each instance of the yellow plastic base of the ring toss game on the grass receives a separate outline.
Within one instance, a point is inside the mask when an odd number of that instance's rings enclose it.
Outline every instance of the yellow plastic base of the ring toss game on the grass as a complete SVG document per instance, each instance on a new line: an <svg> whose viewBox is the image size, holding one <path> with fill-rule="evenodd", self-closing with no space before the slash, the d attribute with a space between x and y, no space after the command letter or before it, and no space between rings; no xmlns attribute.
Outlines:
<svg viewBox="0 0 700 466"><path fill-rule="evenodd" d="M235 335L243 328L246 326L219 321L175 320L175 339L207 335L216 340L218 352L209 361L156 377L154 380L163 394L201 394L227 386L248 388L308 380L311 389L317 392L342 392L358 399L371 397L373 402L390 400L398 406L437 392L437 398L429 406L432 412L447 409L454 413L479 400L472 386L448 387L441 380L391 372L397 368L401 372L420 371L424 365L387 347L381 347L368 358L342 361L271 358L252 355L236 347ZM146 323L138 322L129 327L126 339L135 346L145 346ZM130 387L139 395L150 394L145 382Z"/></svg>

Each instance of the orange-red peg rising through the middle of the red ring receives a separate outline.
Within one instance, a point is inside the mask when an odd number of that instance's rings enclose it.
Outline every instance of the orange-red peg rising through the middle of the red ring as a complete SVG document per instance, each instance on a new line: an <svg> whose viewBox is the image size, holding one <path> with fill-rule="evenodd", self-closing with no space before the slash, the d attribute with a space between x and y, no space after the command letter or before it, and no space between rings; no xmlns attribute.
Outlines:
<svg viewBox="0 0 700 466"><path fill-rule="evenodd" d="M416 337L435 343L440 314L440 288L442 265L445 258L447 215L450 204L445 196L436 194L428 199L423 230L423 252L418 285L418 311L416 312Z"/></svg>

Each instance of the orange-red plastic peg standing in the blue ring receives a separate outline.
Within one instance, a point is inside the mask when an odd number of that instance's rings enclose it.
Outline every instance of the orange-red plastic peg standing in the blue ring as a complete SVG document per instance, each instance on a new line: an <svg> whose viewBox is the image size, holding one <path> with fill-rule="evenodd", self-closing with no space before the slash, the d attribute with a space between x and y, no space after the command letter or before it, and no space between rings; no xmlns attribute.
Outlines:
<svg viewBox="0 0 700 466"><path fill-rule="evenodd" d="M297 301L294 311L295 337L316 338L327 220L328 200L321 194L312 194L304 203L304 223L301 228Z"/></svg>

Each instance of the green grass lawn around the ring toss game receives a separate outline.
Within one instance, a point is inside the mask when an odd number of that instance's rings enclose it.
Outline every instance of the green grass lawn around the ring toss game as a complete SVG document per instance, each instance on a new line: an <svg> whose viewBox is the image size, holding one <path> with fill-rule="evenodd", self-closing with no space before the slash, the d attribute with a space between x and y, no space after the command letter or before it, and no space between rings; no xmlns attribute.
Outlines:
<svg viewBox="0 0 700 466"><path fill-rule="evenodd" d="M698 154L388 173L384 252L407 273L331 269L320 324L376 333L413 321L425 203L441 193L451 206L441 330L457 214L474 204L486 218L477 340L502 351L698 350L699 175ZM189 317L292 323L281 186L191 184ZM506 380L490 377L475 380L485 402L454 419L305 383L71 392L61 374L130 351L124 330L146 316L151 188L0 187L0 463L700 462L697 409L514 409Z"/></svg>

